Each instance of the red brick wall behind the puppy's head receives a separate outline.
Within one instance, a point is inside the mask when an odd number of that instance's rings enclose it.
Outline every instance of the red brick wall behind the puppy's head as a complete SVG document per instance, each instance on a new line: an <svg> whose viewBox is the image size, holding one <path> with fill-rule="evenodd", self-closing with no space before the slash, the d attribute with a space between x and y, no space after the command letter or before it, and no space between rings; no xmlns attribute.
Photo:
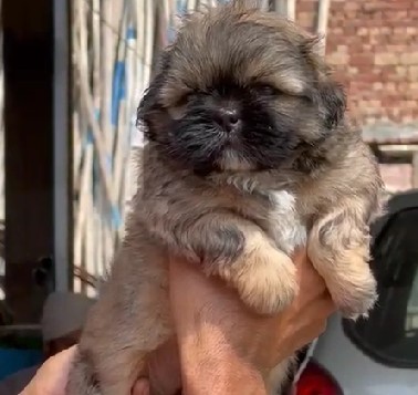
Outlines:
<svg viewBox="0 0 418 395"><path fill-rule="evenodd" d="M297 22L316 9L297 0ZM362 124L418 123L418 0L331 0L326 53Z"/></svg>

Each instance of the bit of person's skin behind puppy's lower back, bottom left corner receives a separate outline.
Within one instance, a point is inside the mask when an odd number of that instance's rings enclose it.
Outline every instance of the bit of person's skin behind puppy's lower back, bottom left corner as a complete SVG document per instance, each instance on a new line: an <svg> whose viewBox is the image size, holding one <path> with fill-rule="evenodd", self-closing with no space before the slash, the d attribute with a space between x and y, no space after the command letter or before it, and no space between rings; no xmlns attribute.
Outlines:
<svg viewBox="0 0 418 395"><path fill-rule="evenodd" d="M65 395L65 385L76 346L50 357L20 395Z"/></svg>

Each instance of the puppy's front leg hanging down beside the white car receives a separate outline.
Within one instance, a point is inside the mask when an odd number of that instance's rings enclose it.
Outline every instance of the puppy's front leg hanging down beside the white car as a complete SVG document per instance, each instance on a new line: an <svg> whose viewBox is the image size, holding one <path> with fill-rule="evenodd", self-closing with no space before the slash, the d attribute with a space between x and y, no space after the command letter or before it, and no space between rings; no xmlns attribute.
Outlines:
<svg viewBox="0 0 418 395"><path fill-rule="evenodd" d="M346 199L320 218L309 239L309 257L346 318L366 314L377 299L368 264L369 211L369 198Z"/></svg>

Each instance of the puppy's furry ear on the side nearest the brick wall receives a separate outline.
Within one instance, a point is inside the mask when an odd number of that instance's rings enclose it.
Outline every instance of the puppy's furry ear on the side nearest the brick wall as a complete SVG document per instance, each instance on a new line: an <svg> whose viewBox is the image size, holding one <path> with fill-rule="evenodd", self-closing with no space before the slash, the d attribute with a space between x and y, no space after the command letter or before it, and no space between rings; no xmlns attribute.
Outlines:
<svg viewBox="0 0 418 395"><path fill-rule="evenodd" d="M302 52L315 75L312 98L318 106L325 127L333 128L344 119L347 106L344 87L333 80L331 70L324 62L321 35L306 38Z"/></svg>

